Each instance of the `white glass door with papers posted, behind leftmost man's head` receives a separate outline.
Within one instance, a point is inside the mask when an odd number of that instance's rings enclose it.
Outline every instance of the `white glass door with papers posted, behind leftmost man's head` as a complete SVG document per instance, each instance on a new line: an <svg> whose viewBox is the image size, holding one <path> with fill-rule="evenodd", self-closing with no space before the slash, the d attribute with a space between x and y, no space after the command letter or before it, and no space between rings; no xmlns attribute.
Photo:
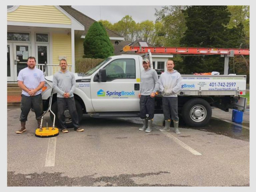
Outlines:
<svg viewBox="0 0 256 192"><path fill-rule="evenodd" d="M13 43L14 53L14 81L17 81L21 69L27 67L27 60L31 54L31 45L26 43Z"/></svg>

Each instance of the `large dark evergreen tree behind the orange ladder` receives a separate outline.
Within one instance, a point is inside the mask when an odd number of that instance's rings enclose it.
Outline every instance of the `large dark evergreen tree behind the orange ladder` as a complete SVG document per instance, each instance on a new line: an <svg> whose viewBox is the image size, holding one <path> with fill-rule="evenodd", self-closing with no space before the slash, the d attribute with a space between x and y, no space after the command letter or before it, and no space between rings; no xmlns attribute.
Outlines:
<svg viewBox="0 0 256 192"><path fill-rule="evenodd" d="M231 14L227 6L190 6L185 11L187 30L183 47L238 48L244 41L243 25L228 29ZM219 71L223 74L224 57L189 56L183 59L182 73Z"/></svg>

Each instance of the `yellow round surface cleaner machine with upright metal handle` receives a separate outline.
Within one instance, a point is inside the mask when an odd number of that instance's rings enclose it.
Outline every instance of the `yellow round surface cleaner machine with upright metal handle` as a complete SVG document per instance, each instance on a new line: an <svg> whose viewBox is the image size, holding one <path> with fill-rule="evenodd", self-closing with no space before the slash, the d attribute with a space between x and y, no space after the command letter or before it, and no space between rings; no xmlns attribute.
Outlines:
<svg viewBox="0 0 256 192"><path fill-rule="evenodd" d="M47 138L49 138L49 137L55 137L55 136L59 135L59 129L54 127L55 126L55 114L51 110L51 106L52 106L52 93L53 93L53 88L51 90L49 107L48 107L48 109L44 112L44 114L40 118L41 119L40 128L36 129L36 134L35 134L36 137L41 137L41 138L47 137ZM44 115L48 111L50 111L53 114L53 116L54 116L52 127L48 127L48 122L47 122L46 119L44 119ZM46 121L46 127L42 127L43 120Z"/></svg>

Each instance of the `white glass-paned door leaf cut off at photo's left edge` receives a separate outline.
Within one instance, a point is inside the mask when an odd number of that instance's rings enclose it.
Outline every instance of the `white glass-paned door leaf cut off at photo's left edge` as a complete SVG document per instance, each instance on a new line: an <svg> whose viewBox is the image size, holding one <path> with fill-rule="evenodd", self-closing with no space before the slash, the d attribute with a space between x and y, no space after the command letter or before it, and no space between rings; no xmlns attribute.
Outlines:
<svg viewBox="0 0 256 192"><path fill-rule="evenodd" d="M7 43L7 81L14 81L13 43Z"/></svg>

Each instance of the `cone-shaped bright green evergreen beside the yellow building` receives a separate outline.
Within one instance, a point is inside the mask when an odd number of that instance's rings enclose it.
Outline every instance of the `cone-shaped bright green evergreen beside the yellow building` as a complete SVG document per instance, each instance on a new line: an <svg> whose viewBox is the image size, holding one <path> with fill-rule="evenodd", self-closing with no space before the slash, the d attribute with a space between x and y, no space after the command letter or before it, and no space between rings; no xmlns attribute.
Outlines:
<svg viewBox="0 0 256 192"><path fill-rule="evenodd" d="M114 48L101 23L94 22L84 39L85 58L106 58L114 55Z"/></svg>

